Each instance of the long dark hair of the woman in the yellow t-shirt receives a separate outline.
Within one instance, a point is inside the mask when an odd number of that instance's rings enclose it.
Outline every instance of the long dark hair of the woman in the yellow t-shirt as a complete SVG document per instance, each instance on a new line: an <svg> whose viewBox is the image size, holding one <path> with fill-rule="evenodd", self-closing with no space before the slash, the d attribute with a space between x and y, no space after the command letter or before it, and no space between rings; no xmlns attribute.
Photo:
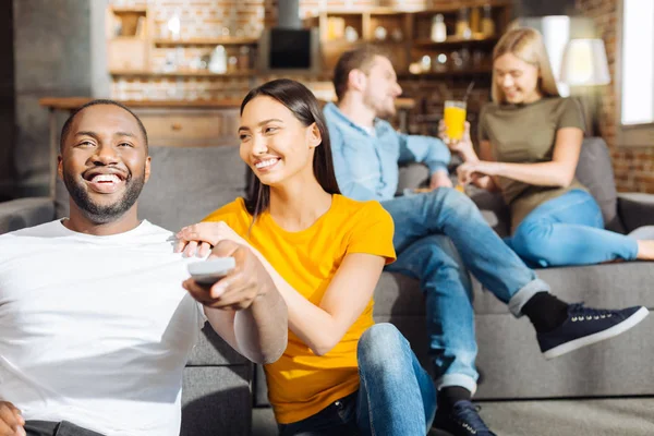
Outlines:
<svg viewBox="0 0 654 436"><path fill-rule="evenodd" d="M329 194L340 194L336 174L334 173L334 162L331 160L331 145L329 143L329 132L327 123L320 111L318 100L311 90L303 84L291 81L290 78L278 78L263 84L252 89L241 104L241 116L245 106L256 97L267 96L276 99L286 106L293 116L306 128L316 123L320 132L322 143L315 148L313 170L314 174ZM256 217L270 205L270 186L263 184L254 174L250 167L247 168L247 186L245 189L245 208L252 215L252 222Z"/></svg>

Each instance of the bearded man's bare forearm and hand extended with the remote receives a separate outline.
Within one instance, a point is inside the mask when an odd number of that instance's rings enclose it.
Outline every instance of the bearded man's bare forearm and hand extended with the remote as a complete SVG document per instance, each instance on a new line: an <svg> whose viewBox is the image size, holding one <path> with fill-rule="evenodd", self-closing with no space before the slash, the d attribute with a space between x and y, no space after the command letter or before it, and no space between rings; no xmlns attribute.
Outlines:
<svg viewBox="0 0 654 436"><path fill-rule="evenodd" d="M234 350L255 363L277 361L287 347L288 311L272 279L244 245L220 241L211 256L232 256L237 267L210 288L193 279L184 281L184 288Z"/></svg>

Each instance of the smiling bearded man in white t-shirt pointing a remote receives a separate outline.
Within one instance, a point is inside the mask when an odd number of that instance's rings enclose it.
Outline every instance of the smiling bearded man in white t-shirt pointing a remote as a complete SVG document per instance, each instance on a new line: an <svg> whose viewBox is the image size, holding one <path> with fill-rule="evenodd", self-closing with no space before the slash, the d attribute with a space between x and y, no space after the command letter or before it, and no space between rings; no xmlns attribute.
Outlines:
<svg viewBox="0 0 654 436"><path fill-rule="evenodd" d="M137 218L149 171L138 118L93 101L61 134L70 218L0 235L0 436L178 435L206 319L254 362L284 350L286 305L249 249L218 244L237 268L203 288L172 233Z"/></svg>

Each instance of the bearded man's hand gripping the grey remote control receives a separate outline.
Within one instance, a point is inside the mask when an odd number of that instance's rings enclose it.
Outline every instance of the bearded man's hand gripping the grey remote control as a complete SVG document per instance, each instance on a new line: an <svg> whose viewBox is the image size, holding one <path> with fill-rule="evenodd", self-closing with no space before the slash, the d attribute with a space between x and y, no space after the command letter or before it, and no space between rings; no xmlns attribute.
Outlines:
<svg viewBox="0 0 654 436"><path fill-rule="evenodd" d="M187 279L182 283L191 295L207 307L239 311L247 308L275 284L256 255L245 245L230 240L219 241L211 257L232 256L237 267L211 287Z"/></svg>

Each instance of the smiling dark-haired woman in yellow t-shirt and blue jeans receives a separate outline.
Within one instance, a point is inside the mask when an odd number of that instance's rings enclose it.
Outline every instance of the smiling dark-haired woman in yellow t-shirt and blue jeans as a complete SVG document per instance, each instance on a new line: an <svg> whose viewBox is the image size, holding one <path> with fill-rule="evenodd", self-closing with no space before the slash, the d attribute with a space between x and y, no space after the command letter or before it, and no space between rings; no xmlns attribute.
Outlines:
<svg viewBox="0 0 654 436"><path fill-rule="evenodd" d="M286 300L289 341L265 365L286 435L424 435L436 392L408 341L373 322L373 292L396 257L377 202L339 193L318 102L302 84L266 83L241 105L245 198L182 229L185 254L222 239L259 256Z"/></svg>

